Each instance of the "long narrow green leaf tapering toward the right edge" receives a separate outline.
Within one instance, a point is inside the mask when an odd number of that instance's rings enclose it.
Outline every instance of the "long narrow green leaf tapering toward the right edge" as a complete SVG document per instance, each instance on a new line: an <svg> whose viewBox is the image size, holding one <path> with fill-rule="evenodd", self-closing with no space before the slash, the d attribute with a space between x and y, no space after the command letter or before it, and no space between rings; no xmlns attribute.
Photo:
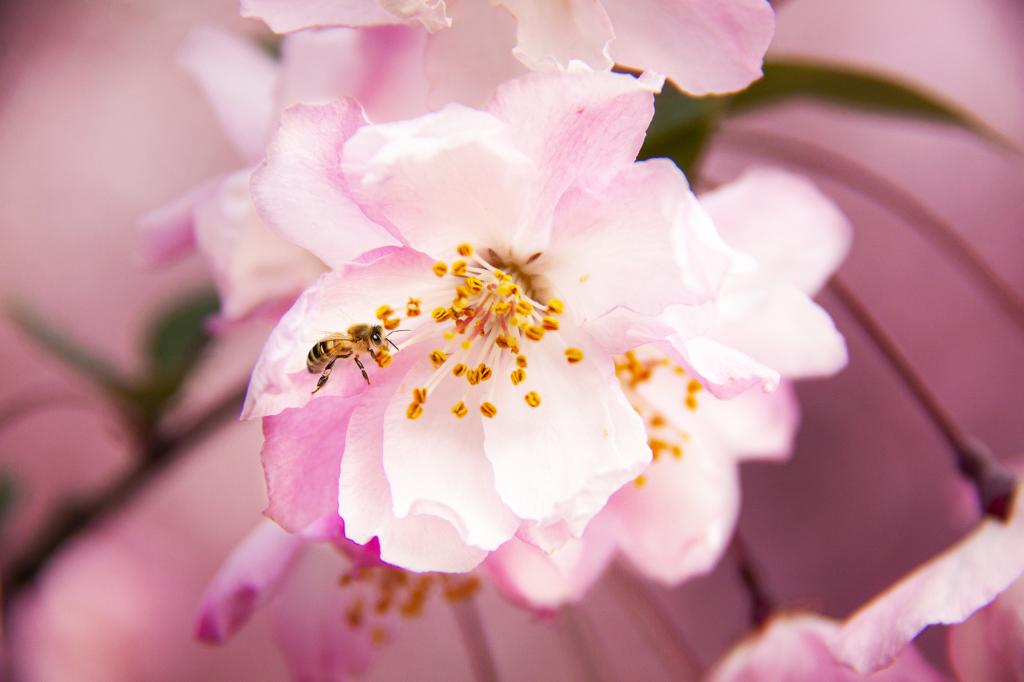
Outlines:
<svg viewBox="0 0 1024 682"><path fill-rule="evenodd" d="M1007 148L1015 144L972 114L888 74L803 59L769 59L764 78L728 98L739 114L796 98L956 126Z"/></svg>

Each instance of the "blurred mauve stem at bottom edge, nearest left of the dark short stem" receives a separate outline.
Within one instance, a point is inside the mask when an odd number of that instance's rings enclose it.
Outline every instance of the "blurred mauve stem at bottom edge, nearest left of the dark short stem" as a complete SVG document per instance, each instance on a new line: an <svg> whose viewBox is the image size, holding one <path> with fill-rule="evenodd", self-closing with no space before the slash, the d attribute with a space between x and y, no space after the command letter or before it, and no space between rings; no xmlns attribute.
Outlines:
<svg viewBox="0 0 1024 682"><path fill-rule="evenodd" d="M623 603L646 632L647 641L651 642L672 679L678 682L700 679L699 659L647 587L617 562L612 564L608 576Z"/></svg>

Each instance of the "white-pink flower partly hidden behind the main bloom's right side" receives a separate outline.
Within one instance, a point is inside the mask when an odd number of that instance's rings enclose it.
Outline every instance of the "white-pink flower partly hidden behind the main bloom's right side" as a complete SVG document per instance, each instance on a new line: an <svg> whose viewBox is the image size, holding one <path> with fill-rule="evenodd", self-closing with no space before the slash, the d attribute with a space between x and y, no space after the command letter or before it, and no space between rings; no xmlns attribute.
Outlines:
<svg viewBox="0 0 1024 682"><path fill-rule="evenodd" d="M727 339L787 378L842 369L843 338L810 298L849 247L849 225L835 205L808 181L767 169L749 171L701 203L728 245L752 261L726 278L717 316L695 338ZM578 601L618 553L667 586L708 572L739 513L739 463L788 456L799 415L788 384L728 400L705 396L701 381L673 361L683 359L680 344L660 345L664 351L646 346L617 364L654 462L611 498L581 541L549 554L514 540L492 554L486 566L513 600L534 608Z"/></svg>

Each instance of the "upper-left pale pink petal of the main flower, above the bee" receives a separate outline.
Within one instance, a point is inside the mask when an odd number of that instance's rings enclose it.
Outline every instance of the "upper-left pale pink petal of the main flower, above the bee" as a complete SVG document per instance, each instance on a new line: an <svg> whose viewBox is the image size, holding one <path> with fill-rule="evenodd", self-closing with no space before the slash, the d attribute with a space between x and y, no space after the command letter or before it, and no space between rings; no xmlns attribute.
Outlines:
<svg viewBox="0 0 1024 682"><path fill-rule="evenodd" d="M351 201L339 170L342 146L365 122L352 99L292 106L252 178L253 201L263 220L335 268L371 249L397 244Z"/></svg>

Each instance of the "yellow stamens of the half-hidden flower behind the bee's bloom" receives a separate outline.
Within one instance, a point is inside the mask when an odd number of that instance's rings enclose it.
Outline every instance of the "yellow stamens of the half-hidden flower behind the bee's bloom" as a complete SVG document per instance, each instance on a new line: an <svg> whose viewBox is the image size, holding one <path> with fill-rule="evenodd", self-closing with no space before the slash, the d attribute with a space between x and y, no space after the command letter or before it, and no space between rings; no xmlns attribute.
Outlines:
<svg viewBox="0 0 1024 682"><path fill-rule="evenodd" d="M690 440L690 434L680 428L671 419L667 418L640 392L640 386L651 380L656 372L671 372L679 377L682 382L686 372L683 368L672 363L668 357L655 356L650 353L643 353L644 357L633 350L627 351L625 355L615 359L615 375L618 383L629 398L630 404L643 418L647 431L647 444L653 461L657 462L662 457L671 456L674 459L683 459L683 444ZM696 379L686 381L682 391L682 403L687 410L695 412L697 404L697 393L703 387ZM647 478L645 474L640 474L634 479L637 487L643 487Z"/></svg>

